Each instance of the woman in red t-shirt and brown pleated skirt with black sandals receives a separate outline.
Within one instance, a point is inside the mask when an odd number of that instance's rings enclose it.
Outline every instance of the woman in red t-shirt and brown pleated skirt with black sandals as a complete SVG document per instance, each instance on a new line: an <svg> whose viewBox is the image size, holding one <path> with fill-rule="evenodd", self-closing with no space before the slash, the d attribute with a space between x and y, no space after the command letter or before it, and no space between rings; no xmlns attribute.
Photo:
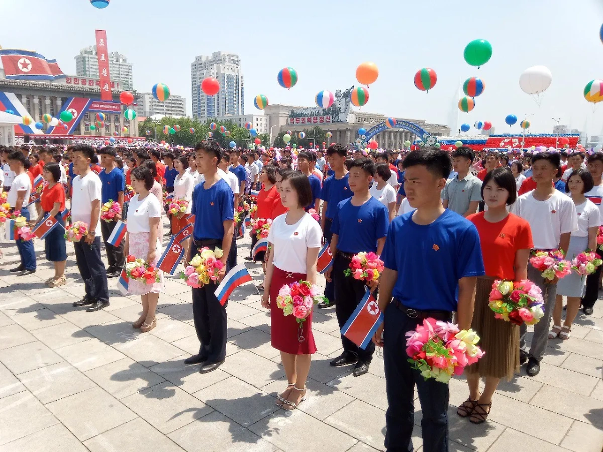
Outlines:
<svg viewBox="0 0 603 452"><path fill-rule="evenodd" d="M481 424L490 413L492 395L500 378L513 378L519 369L519 327L494 317L488 298L494 280L520 281L528 277L528 258L532 243L529 223L507 212L517 199L515 178L508 167L488 172L482 184L482 198L488 210L469 215L467 219L478 229L485 274L478 277L475 309L471 327L480 337L484 357L466 368L469 399L456 411L461 417L471 416L473 424ZM479 394L479 378L485 388Z"/></svg>

